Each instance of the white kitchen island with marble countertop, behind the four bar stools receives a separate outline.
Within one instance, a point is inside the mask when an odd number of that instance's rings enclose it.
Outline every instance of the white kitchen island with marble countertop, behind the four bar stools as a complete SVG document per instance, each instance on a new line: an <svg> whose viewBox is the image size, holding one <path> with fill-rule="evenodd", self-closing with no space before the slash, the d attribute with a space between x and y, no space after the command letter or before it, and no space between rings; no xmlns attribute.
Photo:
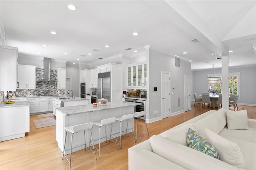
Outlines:
<svg viewBox="0 0 256 170"><path fill-rule="evenodd" d="M109 102L107 104L98 105L93 107L92 104L80 105L80 106L70 106L70 107L60 107L56 108L56 140L58 142L58 147L60 150L64 150L64 141L65 141L65 127L80 125L83 123L89 123L92 121L98 121L110 117L118 117L122 115L127 115L134 113L134 106L141 105L140 103L131 103L131 102ZM125 124L126 125L126 122ZM117 132L120 132L120 122L116 121L114 127ZM126 126L124 126L126 127ZM128 128L131 128L128 124ZM110 134L111 128L107 127L107 135ZM105 136L105 127L101 128L101 138ZM112 129L112 134L114 130ZM86 132L86 144L89 145L88 132ZM120 136L120 134L117 134ZM66 150L70 148L70 137L71 134L68 133ZM93 126L92 128L92 137L93 140L96 140L94 144L98 143L99 138L99 128L98 126ZM101 140L103 142L104 139ZM81 150L84 148L84 133L78 132L73 136L73 147L72 152ZM70 150L67 150L65 154L69 154Z"/></svg>

